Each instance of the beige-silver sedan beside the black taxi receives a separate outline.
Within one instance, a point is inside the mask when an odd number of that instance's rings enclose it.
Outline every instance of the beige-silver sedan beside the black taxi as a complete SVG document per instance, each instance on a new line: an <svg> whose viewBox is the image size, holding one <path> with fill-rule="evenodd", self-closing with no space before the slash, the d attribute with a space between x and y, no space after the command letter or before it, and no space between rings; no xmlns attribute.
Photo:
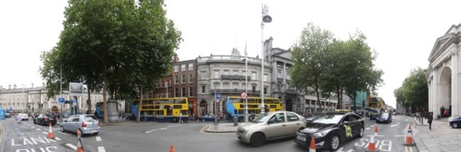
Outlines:
<svg viewBox="0 0 461 152"><path fill-rule="evenodd" d="M251 122L241 124L237 138L251 146L262 146L265 141L296 136L296 131L306 128L306 119L295 112L267 112Z"/></svg>

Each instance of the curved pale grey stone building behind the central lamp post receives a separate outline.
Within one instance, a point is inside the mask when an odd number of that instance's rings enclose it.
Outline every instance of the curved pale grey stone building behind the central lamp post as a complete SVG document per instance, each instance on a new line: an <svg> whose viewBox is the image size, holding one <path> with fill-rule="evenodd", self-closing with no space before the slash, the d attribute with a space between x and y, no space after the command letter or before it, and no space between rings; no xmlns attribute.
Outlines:
<svg viewBox="0 0 461 152"><path fill-rule="evenodd" d="M215 113L215 95L221 93L218 100L218 112L226 109L228 96L240 96L245 92L245 56L238 49L232 49L230 55L213 55L197 57L197 101L198 111L202 113ZM264 90L265 97L271 96L272 66L270 62L264 64ZM248 57L248 96L260 97L261 91L261 59Z"/></svg>

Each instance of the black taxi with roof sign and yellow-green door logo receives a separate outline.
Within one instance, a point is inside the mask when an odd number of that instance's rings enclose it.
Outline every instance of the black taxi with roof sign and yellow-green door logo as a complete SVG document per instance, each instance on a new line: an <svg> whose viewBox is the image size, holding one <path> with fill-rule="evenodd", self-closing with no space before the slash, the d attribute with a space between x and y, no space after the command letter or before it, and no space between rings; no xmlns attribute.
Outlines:
<svg viewBox="0 0 461 152"><path fill-rule="evenodd" d="M316 141L316 148L338 149L342 141L364 134L365 122L352 112L326 112L316 115L306 124L306 129L296 132L295 143L309 147L311 137Z"/></svg>

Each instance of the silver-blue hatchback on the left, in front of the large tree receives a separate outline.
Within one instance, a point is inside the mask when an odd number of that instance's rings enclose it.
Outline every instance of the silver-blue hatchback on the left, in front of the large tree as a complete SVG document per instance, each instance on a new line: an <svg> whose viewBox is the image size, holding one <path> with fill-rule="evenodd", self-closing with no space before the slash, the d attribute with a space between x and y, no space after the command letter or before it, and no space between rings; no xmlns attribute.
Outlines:
<svg viewBox="0 0 461 152"><path fill-rule="evenodd" d="M99 134L99 120L94 115L71 115L61 123L61 131L77 132L77 129L85 134Z"/></svg>

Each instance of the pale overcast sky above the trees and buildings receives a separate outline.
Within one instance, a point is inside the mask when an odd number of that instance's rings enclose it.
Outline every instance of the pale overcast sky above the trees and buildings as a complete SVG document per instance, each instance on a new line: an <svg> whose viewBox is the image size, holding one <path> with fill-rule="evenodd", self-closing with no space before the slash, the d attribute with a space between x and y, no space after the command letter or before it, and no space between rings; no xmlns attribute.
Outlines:
<svg viewBox="0 0 461 152"><path fill-rule="evenodd" d="M182 31L177 54L182 61L199 55L261 54L261 4L269 6L272 23L264 38L288 49L312 22L342 40L361 30L378 52L376 67L384 71L378 90L395 107L393 91L411 69L426 68L435 40L461 23L461 1L182 1L167 0L167 16ZM40 52L59 39L66 1L0 1L0 86L41 86Z"/></svg>

